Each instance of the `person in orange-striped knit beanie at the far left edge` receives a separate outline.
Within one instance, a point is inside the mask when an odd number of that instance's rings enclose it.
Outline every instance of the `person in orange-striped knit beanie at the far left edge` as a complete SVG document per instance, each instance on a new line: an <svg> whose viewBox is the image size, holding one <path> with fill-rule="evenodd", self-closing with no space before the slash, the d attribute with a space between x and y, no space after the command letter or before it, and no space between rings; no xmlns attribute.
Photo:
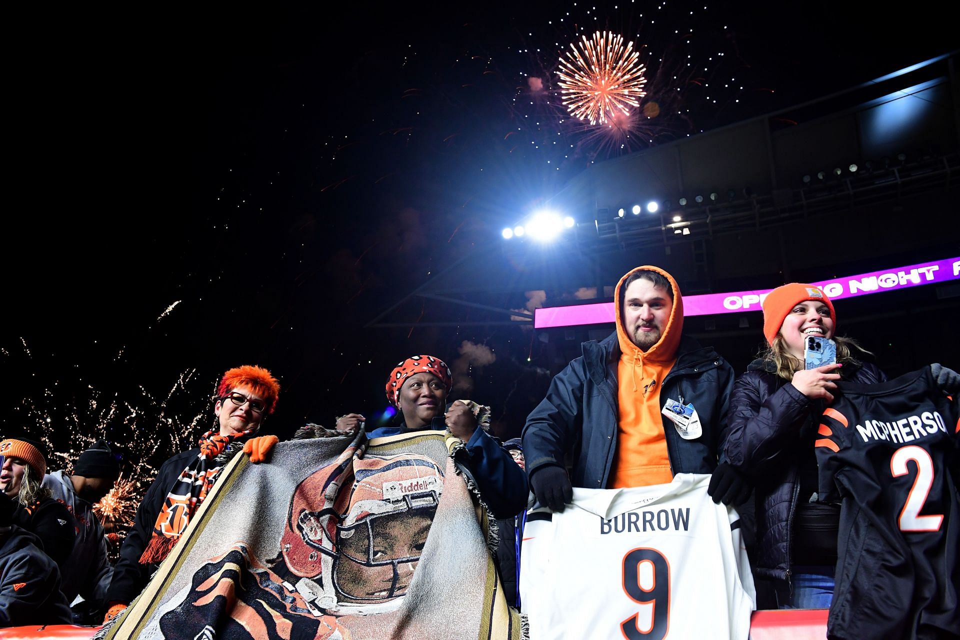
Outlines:
<svg viewBox="0 0 960 640"><path fill-rule="evenodd" d="M47 459L42 445L27 438L0 442L0 490L17 504L13 524L36 535L40 548L62 571L73 552L77 533L70 511L43 486Z"/></svg>

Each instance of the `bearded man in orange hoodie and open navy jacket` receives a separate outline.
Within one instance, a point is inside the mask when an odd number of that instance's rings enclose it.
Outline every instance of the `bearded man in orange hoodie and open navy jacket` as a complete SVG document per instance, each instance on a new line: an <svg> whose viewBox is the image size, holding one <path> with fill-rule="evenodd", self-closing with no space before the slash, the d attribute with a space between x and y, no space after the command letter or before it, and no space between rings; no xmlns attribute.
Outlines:
<svg viewBox="0 0 960 640"><path fill-rule="evenodd" d="M675 473L712 473L714 502L743 502L750 486L717 461L733 369L684 336L677 282L637 267L620 279L613 303L616 331L584 343L527 417L523 449L540 503L563 511L572 486L658 485Z"/></svg>

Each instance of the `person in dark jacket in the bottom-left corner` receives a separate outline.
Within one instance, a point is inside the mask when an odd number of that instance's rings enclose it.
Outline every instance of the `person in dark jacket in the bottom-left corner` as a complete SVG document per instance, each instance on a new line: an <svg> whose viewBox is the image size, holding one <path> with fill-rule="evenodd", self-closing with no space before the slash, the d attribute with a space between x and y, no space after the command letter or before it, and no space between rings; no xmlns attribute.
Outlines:
<svg viewBox="0 0 960 640"><path fill-rule="evenodd" d="M0 627L69 623L60 571L40 551L36 535L13 524L15 510L0 493Z"/></svg>

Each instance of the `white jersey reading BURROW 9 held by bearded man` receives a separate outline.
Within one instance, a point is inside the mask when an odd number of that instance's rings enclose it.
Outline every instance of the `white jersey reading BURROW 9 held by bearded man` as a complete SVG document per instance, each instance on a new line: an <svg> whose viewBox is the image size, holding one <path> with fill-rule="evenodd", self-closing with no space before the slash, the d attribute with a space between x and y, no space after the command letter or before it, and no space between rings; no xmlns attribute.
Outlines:
<svg viewBox="0 0 960 640"><path fill-rule="evenodd" d="M739 516L713 504L709 479L574 488L563 513L532 510L520 556L531 639L746 640L754 579Z"/></svg>

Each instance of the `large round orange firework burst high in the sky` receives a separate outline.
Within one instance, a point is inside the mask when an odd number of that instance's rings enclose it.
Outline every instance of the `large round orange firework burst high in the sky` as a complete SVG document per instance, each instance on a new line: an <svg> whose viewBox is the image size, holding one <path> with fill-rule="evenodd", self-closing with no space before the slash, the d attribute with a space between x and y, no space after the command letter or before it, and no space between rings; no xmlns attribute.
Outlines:
<svg viewBox="0 0 960 640"><path fill-rule="evenodd" d="M647 95L643 85L646 67L637 62L639 53L634 43L623 46L623 36L612 32L596 32L592 39L583 36L577 48L560 59L559 84L564 107L575 118L588 120L591 125L606 124L617 113L630 113L638 107L639 99Z"/></svg>

